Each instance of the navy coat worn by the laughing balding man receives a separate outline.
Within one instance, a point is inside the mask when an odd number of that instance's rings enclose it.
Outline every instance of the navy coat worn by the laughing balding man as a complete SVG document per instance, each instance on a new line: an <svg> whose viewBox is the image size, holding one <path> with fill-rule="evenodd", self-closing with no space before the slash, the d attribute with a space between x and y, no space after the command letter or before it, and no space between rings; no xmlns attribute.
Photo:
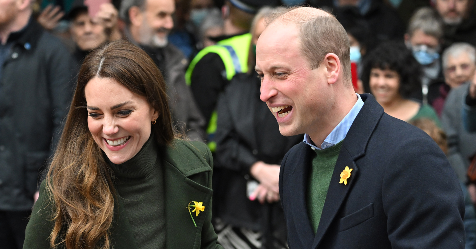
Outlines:
<svg viewBox="0 0 476 249"><path fill-rule="evenodd" d="M307 216L311 147L281 164L279 193L290 249L464 248L465 202L445 154L422 130L384 113L370 94L337 159L317 234ZM340 173L353 169L347 185Z"/></svg>

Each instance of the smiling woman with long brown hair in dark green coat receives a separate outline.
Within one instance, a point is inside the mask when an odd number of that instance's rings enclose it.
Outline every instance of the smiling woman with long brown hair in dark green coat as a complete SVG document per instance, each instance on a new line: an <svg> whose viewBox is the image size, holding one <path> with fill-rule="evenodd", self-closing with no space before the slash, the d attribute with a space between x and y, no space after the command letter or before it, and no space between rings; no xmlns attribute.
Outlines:
<svg viewBox="0 0 476 249"><path fill-rule="evenodd" d="M159 69L126 41L81 66L24 248L221 248L211 153L178 139ZM202 203L193 220L186 209Z"/></svg>

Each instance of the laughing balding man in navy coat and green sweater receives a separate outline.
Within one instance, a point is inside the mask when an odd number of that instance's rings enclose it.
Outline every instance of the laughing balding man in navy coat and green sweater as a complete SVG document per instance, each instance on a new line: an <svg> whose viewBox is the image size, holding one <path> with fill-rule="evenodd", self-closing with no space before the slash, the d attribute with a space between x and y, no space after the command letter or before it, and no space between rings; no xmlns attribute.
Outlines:
<svg viewBox="0 0 476 249"><path fill-rule="evenodd" d="M354 92L347 33L333 16L278 13L256 51L260 98L279 131L305 133L279 175L290 249L464 248L463 196L444 153Z"/></svg>

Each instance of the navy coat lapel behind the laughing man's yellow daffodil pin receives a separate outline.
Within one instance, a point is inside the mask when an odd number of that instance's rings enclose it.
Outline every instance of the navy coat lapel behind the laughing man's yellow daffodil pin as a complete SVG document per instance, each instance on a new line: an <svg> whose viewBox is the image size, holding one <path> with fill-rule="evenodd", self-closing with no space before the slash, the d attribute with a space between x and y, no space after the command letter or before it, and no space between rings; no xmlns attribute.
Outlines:
<svg viewBox="0 0 476 249"><path fill-rule="evenodd" d="M349 190L358 179L359 171L355 160L365 155L368 140L384 113L383 108L372 95L361 94L360 96L365 103L342 143L311 249L317 248L330 224L336 218L342 203L347 199ZM344 183L339 184L340 173L346 166L352 169L351 176L347 179L347 185Z"/></svg>

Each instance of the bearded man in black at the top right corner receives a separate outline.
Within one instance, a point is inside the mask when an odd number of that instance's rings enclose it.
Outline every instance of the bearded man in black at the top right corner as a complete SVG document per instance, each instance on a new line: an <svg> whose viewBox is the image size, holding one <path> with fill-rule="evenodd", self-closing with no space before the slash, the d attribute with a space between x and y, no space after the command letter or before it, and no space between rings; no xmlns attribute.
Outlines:
<svg viewBox="0 0 476 249"><path fill-rule="evenodd" d="M445 23L443 49L454 42L476 46L476 11L474 0L432 0Z"/></svg>

